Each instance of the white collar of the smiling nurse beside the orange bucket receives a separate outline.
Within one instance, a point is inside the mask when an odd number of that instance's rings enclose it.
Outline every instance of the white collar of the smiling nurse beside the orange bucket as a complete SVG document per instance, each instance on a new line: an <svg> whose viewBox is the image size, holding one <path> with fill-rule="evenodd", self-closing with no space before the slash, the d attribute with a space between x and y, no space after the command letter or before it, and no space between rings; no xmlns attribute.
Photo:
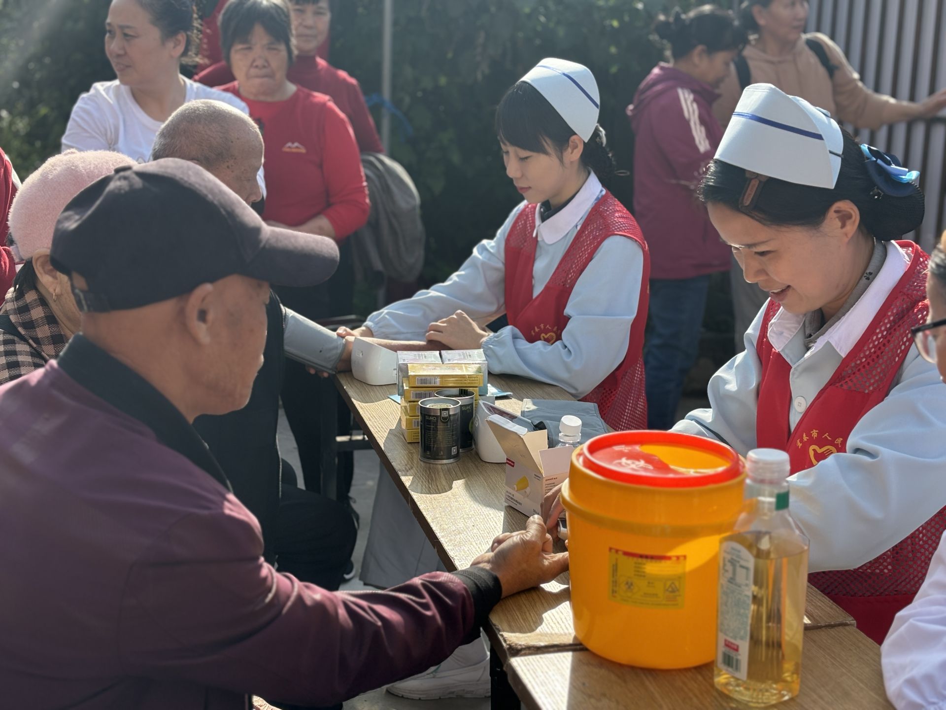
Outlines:
<svg viewBox="0 0 946 710"><path fill-rule="evenodd" d="M815 345L805 353L806 358L811 357L821 347L829 343L842 358L846 358L853 347L857 345L857 341L864 335L867 326L873 321L877 312L881 310L887 296L896 288L910 265L910 257L893 241L886 242L886 250L886 258L880 274L867 287L867 291L857 300L850 311L831 328L828 328L828 332L815 341ZM769 343L775 349L781 351L795 337L804 320L804 314L798 315L782 309L769 322Z"/></svg>

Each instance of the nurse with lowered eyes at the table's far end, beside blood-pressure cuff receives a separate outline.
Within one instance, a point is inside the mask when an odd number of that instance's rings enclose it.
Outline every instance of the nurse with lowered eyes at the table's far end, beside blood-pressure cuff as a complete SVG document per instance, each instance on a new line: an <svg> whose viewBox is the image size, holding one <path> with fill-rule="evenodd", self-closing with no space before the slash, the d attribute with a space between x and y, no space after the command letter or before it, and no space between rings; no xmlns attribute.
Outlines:
<svg viewBox="0 0 946 710"><path fill-rule="evenodd" d="M597 402L616 429L643 428L647 248L604 188L614 172L587 67L545 59L499 103L506 174L524 202L447 281L373 313L357 335L486 353ZM603 185L604 184L604 185ZM485 328L505 313L509 327Z"/></svg>

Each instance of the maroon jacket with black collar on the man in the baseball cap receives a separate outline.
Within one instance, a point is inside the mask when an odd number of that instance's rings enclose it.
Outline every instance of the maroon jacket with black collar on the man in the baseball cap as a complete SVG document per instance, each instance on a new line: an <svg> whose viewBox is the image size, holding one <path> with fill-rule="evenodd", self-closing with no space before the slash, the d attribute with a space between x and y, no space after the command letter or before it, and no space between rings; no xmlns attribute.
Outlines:
<svg viewBox="0 0 946 710"><path fill-rule="evenodd" d="M0 387L0 688L30 710L328 705L443 661L492 573L332 594L261 558L184 417L75 336Z"/></svg>

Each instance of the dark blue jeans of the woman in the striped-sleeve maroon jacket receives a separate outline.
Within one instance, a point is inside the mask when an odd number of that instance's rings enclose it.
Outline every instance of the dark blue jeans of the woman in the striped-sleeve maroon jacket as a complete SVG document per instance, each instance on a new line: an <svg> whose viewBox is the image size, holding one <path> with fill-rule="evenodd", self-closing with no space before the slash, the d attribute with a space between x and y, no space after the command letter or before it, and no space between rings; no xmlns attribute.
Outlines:
<svg viewBox="0 0 946 710"><path fill-rule="evenodd" d="M710 275L652 278L644 373L647 428L670 429L676 423L683 382L696 361Z"/></svg>

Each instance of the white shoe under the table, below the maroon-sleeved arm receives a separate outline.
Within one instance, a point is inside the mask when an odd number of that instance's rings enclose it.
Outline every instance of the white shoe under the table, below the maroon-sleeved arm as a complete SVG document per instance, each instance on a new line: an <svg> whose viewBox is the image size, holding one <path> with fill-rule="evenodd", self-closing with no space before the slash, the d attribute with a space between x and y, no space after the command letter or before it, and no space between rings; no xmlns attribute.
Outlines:
<svg viewBox="0 0 946 710"><path fill-rule="evenodd" d="M462 646L440 666L388 686L388 692L414 701L488 698L489 656L482 640Z"/></svg>

